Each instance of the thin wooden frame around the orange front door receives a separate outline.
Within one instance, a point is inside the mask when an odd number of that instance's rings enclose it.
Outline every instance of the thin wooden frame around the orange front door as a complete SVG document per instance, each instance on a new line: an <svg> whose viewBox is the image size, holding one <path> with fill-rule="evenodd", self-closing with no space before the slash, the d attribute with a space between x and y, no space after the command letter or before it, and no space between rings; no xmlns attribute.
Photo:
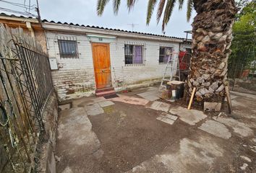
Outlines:
<svg viewBox="0 0 256 173"><path fill-rule="evenodd" d="M104 89L104 88L97 88L97 80L96 80L96 71L95 71L95 58L94 58L94 51L93 51L93 45L107 45L108 47L108 57L109 57L109 70L110 70L110 74L109 77L111 78L110 81L110 87L112 87L112 71L111 71L111 56L110 56L110 43L98 43L98 42L91 42L90 43L91 47L92 47L92 57L93 57L93 71L94 71L94 78L95 78L95 89ZM106 87L107 88L107 87Z"/></svg>

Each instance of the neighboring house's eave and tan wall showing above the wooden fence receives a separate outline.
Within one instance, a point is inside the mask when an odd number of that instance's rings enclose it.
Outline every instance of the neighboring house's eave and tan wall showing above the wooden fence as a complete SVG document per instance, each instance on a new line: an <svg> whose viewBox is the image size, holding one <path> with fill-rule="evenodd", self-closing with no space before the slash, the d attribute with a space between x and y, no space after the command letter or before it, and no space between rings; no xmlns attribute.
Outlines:
<svg viewBox="0 0 256 173"><path fill-rule="evenodd" d="M8 27L22 28L28 35L35 37L35 39L38 40L38 43L42 46L43 51L47 53L46 35L38 22L38 19L0 13L0 23L7 25Z"/></svg>

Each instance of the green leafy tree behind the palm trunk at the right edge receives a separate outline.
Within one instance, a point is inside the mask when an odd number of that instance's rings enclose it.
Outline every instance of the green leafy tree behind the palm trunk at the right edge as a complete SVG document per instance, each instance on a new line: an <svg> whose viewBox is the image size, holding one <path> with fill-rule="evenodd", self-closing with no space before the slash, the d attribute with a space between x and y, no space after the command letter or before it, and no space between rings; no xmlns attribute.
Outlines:
<svg viewBox="0 0 256 173"><path fill-rule="evenodd" d="M256 1L247 1L236 15L233 27L232 54L229 58L229 77L237 78L256 60Z"/></svg>

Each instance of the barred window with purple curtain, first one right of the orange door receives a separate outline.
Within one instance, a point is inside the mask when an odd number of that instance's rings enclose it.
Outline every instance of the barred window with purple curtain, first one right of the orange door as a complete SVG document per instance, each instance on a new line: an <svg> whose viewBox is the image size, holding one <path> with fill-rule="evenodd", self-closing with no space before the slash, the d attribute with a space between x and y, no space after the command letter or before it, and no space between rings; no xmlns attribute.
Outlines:
<svg viewBox="0 0 256 173"><path fill-rule="evenodd" d="M142 45L124 45L125 64L143 64Z"/></svg>

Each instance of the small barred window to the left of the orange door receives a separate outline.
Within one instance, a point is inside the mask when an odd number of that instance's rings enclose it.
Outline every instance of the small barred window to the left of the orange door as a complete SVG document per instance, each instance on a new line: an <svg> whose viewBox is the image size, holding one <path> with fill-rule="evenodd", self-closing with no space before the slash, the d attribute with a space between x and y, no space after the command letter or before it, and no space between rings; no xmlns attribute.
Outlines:
<svg viewBox="0 0 256 173"><path fill-rule="evenodd" d="M78 58L77 41L58 40L61 58Z"/></svg>

